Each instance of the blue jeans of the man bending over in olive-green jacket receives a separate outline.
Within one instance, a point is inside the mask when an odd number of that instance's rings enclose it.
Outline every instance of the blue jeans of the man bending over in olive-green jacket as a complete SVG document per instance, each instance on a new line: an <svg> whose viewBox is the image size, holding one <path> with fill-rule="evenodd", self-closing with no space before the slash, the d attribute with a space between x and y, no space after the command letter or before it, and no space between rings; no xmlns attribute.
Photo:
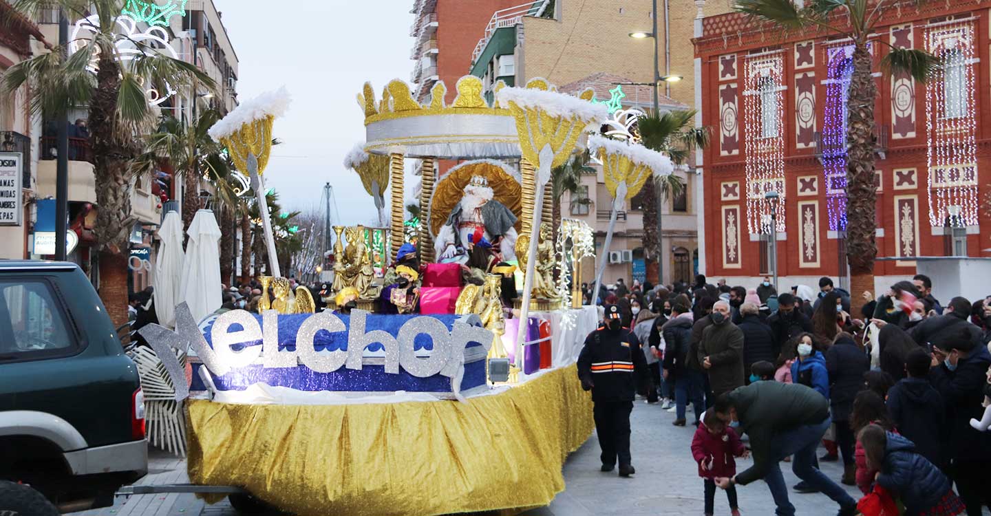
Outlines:
<svg viewBox="0 0 991 516"><path fill-rule="evenodd" d="M777 509L774 511L778 516L794 516L795 506L788 501L788 486L785 485L785 478L781 474L779 464L781 460L792 455L792 471L799 478L809 482L813 487L826 494L832 501L842 507L849 507L856 504L856 500L846 494L836 482L830 480L823 471L820 471L816 464L816 450L819 442L823 440L826 429L832 424L831 418L816 425L803 425L791 430L781 432L774 436L773 448L768 458L771 461L770 468L764 476L767 487L771 490L774 504Z"/></svg>

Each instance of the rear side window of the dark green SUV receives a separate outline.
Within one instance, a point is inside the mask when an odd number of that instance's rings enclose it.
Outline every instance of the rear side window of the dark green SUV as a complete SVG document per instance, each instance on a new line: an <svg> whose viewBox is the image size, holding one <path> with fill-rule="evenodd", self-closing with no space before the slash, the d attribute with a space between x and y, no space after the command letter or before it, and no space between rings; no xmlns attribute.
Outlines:
<svg viewBox="0 0 991 516"><path fill-rule="evenodd" d="M61 357L75 350L75 336L51 283L0 280L0 361Z"/></svg>

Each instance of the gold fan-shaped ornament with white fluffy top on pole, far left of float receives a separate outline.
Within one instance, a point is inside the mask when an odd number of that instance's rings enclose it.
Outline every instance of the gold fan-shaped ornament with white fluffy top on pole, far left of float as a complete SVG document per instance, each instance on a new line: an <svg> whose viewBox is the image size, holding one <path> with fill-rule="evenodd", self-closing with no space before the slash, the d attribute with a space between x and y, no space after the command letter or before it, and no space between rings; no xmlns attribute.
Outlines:
<svg viewBox="0 0 991 516"><path fill-rule="evenodd" d="M259 214L265 229L269 265L274 276L281 276L275 255L275 236L266 202L265 181L262 174L272 156L272 131L275 119L289 107L289 94L285 88L263 93L244 102L213 125L208 134L227 148L234 166L251 177L251 186L258 200Z"/></svg>

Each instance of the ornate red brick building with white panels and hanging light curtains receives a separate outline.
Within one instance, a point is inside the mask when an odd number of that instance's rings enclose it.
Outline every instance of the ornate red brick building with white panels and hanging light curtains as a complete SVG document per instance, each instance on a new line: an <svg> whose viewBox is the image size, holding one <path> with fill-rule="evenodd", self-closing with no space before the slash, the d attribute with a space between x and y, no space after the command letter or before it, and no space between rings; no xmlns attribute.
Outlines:
<svg viewBox="0 0 991 516"><path fill-rule="evenodd" d="M905 3L876 28L879 287L914 257L991 256L980 220L991 183L991 1ZM897 15L897 16L895 16ZM782 38L740 14L705 18L695 40L705 156L705 272L752 284L770 271L772 205L781 286L844 278L845 89L849 42ZM939 55L926 85L881 73L888 45ZM885 277L889 276L889 277Z"/></svg>

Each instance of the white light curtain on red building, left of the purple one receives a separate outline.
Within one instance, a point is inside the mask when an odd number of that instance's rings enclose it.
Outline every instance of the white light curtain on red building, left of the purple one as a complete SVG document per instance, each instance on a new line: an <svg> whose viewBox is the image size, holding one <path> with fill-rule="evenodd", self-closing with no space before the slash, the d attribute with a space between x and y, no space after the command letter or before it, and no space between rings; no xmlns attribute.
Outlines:
<svg viewBox="0 0 991 516"><path fill-rule="evenodd" d="M777 231L785 231L785 139L782 53L746 56L744 63L744 141L746 153L747 228L750 234L770 233L761 221L771 214L764 194L778 192Z"/></svg>

